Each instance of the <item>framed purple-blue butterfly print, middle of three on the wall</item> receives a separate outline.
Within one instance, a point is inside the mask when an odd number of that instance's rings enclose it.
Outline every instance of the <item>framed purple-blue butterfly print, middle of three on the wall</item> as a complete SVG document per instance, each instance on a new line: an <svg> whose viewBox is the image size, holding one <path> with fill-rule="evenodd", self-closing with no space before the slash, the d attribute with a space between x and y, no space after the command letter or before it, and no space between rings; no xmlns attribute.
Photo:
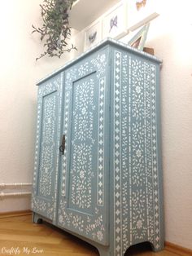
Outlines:
<svg viewBox="0 0 192 256"><path fill-rule="evenodd" d="M126 2L120 2L103 15L103 38L120 39L127 33L126 7Z"/></svg>

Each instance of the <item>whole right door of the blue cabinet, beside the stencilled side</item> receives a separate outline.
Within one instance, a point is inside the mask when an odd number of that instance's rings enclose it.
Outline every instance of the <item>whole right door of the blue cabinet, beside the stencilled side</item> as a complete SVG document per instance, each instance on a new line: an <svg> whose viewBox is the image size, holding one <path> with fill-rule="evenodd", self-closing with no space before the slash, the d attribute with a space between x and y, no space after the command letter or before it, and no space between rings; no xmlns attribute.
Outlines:
<svg viewBox="0 0 192 256"><path fill-rule="evenodd" d="M64 74L63 135L58 225L107 245L109 86L108 50Z"/></svg>

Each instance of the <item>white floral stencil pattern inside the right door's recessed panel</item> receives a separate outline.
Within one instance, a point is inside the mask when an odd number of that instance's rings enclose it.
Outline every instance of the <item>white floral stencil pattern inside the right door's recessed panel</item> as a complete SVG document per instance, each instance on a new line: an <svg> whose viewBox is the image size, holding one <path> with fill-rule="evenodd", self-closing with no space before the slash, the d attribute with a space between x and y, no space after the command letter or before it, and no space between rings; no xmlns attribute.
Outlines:
<svg viewBox="0 0 192 256"><path fill-rule="evenodd" d="M82 71L81 71L82 73ZM70 197L72 207L91 210L92 156L95 143L94 79L74 84L72 112L72 149L70 170Z"/></svg>

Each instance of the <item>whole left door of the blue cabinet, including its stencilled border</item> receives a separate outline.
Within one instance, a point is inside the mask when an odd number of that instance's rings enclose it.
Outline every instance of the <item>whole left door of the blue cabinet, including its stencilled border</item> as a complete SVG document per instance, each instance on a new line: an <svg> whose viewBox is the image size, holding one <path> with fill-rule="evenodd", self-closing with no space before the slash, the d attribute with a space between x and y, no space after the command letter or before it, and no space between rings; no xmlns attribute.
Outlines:
<svg viewBox="0 0 192 256"><path fill-rule="evenodd" d="M55 223L63 73L38 86L32 210Z"/></svg>

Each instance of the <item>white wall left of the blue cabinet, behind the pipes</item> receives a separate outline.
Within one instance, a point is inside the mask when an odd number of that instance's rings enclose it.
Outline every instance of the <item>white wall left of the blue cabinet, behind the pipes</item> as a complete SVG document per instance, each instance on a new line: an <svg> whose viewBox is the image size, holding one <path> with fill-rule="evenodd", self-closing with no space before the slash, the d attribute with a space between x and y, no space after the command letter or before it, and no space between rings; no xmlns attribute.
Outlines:
<svg viewBox="0 0 192 256"><path fill-rule="evenodd" d="M0 183L30 183L33 176L37 86L65 60L36 57L43 51L32 24L41 22L41 0L10 0L0 8ZM68 55L68 58L70 55ZM15 189L14 189L15 191ZM1 190L0 192L7 192ZM0 212L30 208L29 196L0 197Z"/></svg>

